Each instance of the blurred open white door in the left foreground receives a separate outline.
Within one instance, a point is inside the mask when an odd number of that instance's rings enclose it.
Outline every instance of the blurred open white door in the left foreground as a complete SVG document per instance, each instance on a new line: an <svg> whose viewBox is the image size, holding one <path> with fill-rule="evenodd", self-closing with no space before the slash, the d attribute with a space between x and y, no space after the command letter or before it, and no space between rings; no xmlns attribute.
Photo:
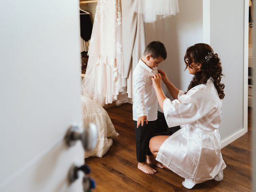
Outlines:
<svg viewBox="0 0 256 192"><path fill-rule="evenodd" d="M0 2L0 191L82 191L81 142L64 135L82 122L78 0Z"/></svg>

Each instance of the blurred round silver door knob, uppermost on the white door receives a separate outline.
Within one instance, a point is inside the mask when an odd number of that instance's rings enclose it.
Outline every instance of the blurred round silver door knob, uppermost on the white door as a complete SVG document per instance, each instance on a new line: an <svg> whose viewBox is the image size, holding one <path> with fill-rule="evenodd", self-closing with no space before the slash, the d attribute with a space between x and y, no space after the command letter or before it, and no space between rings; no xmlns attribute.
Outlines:
<svg viewBox="0 0 256 192"><path fill-rule="evenodd" d="M97 128L93 123L85 126L83 132L79 132L78 125L72 125L66 133L66 142L68 146L73 146L76 144L77 140L81 140L85 151L93 150L96 147L97 139Z"/></svg>

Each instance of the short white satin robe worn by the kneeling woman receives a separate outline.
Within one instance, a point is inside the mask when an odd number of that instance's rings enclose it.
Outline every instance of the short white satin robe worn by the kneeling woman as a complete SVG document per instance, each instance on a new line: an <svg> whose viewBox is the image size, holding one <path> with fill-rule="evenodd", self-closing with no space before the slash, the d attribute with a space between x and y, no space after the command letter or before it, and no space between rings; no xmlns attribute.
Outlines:
<svg viewBox="0 0 256 192"><path fill-rule="evenodd" d="M226 164L220 153L218 127L222 100L210 78L178 99L164 100L164 116L169 127L181 129L164 141L156 160L193 183L213 179Z"/></svg>

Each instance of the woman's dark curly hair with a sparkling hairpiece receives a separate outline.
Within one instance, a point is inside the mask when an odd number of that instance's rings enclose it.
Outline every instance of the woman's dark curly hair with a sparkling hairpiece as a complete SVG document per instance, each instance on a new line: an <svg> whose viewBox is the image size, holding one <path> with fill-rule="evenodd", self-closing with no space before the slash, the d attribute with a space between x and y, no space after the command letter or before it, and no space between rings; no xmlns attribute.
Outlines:
<svg viewBox="0 0 256 192"><path fill-rule="evenodd" d="M212 54L211 54L212 52ZM211 58L207 59L206 56L212 56ZM220 99L223 99L224 94L224 87L223 83L220 83L222 76L222 66L220 63L220 58L218 58L218 54L213 54L213 50L210 45L204 43L194 44L190 46L186 54L184 56L184 61L186 63L185 70L190 66L192 62L195 64L202 64L200 70L195 74L192 78L187 92L192 89L194 86L200 84L206 84L207 80L212 77L214 82L214 86L217 89L218 96ZM186 92L186 93L187 93Z"/></svg>

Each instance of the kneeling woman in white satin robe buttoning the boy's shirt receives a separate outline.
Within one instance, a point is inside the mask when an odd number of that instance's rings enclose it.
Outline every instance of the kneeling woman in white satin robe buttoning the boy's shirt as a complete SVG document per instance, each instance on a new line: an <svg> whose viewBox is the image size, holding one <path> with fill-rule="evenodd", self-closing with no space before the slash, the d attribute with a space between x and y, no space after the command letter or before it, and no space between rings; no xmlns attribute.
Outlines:
<svg viewBox="0 0 256 192"><path fill-rule="evenodd" d="M160 107L168 127L181 125L172 136L155 136L150 151L156 160L185 178L186 188L206 180L222 180L226 167L220 153L218 127L222 117L224 84L218 54L207 44L195 44L184 56L186 68L194 77L183 92L168 80L162 70L152 77ZM175 99L166 98L161 81Z"/></svg>

